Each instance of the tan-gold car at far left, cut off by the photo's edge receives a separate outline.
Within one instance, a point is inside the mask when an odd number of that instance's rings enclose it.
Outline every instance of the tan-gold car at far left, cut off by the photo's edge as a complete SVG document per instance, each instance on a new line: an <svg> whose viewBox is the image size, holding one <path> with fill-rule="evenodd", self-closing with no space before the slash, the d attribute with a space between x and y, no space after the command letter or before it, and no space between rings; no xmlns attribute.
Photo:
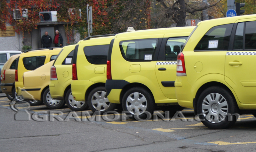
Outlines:
<svg viewBox="0 0 256 152"><path fill-rule="evenodd" d="M6 94L6 97L9 100L13 100L12 94L16 95L15 91L15 66L17 62L17 58L20 54L12 55L10 59L5 62L3 68L1 69L1 90Z"/></svg>

